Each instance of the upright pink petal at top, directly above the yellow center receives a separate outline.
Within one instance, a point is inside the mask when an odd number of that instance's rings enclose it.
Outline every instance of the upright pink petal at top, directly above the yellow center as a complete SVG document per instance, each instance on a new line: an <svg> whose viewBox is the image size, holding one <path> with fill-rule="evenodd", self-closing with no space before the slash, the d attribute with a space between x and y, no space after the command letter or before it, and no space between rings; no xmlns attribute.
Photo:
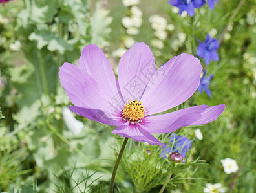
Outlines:
<svg viewBox="0 0 256 193"><path fill-rule="evenodd" d="M140 100L155 71L155 58L144 42L136 43L126 51L118 66L118 81L125 102Z"/></svg>

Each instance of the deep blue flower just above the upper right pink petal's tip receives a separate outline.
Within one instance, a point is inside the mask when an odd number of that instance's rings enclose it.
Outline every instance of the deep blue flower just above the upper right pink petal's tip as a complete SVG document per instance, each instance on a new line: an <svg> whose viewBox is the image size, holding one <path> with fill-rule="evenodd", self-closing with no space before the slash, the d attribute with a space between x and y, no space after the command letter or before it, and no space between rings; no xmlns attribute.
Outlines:
<svg viewBox="0 0 256 193"><path fill-rule="evenodd" d="M198 41L198 40L197 40ZM208 65L211 60L218 61L219 55L216 50L219 48L219 42L217 39L211 38L209 33L207 33L206 40L204 42L198 41L200 44L197 47L197 55L204 58L206 65Z"/></svg>

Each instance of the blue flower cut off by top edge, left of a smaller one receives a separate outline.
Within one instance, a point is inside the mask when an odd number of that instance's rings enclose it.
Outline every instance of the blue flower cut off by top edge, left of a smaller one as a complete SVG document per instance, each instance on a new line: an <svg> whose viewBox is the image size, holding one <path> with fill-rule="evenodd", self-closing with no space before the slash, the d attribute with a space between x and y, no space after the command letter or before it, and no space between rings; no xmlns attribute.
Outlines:
<svg viewBox="0 0 256 193"><path fill-rule="evenodd" d="M206 3L204 0L169 0L169 4L180 8L180 15L183 11L186 11L187 14L191 17L194 16L194 8L200 8Z"/></svg>

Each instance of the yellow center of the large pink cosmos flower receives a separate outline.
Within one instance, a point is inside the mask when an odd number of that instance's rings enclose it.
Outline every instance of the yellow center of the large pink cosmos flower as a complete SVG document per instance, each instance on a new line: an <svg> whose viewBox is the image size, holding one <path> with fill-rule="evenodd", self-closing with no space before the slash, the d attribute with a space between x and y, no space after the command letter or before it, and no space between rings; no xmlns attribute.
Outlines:
<svg viewBox="0 0 256 193"><path fill-rule="evenodd" d="M138 100L130 100L123 107L123 118L129 122L138 122L145 116L145 108Z"/></svg>

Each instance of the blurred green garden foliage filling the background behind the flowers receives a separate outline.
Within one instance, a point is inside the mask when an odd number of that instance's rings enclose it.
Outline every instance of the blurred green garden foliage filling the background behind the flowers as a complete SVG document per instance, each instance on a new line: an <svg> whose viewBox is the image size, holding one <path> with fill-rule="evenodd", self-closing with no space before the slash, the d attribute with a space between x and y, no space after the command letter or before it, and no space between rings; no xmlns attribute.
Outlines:
<svg viewBox="0 0 256 193"><path fill-rule="evenodd" d="M219 61L206 66L201 59L208 75L214 75L212 97L196 91L180 107L225 103L226 109L218 120L199 127L202 140L195 138L197 127L176 132L193 141L192 149L189 164L176 167L165 192L203 192L206 183L221 183L226 192L255 192L255 1L220 1L212 11L204 5L193 18L179 15L167 0L141 0L136 7L141 24L131 35L122 19L133 12L122 1L0 4L0 192L108 192L123 139L111 134L112 127L65 115L63 107L70 102L59 84L59 67L78 64L83 47L94 43L117 73L120 53L142 41L159 67L180 53L195 55L195 37L204 41L208 32L221 41ZM152 15L164 18L165 38L156 36ZM69 122L80 123L81 131ZM159 192L170 172L159 152L158 146L130 140L114 191ZM223 171L224 158L237 161L235 174Z"/></svg>

